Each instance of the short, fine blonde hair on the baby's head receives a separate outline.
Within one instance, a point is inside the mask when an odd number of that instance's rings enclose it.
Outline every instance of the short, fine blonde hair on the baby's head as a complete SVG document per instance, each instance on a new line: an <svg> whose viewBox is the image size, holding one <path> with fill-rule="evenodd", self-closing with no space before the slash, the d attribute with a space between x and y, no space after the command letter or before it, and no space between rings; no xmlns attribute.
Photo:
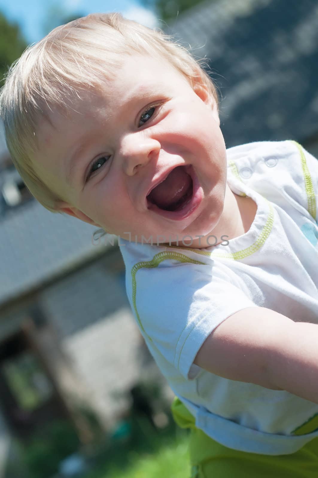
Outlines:
<svg viewBox="0 0 318 478"><path fill-rule="evenodd" d="M0 117L12 161L31 194L49 211L66 200L36 171L36 130L52 107L67 110L66 99L98 88L111 79L123 56L150 54L166 58L192 87L200 84L216 104L211 78L189 52L161 31L127 20L120 13L91 14L61 25L30 45L11 66L0 92Z"/></svg>

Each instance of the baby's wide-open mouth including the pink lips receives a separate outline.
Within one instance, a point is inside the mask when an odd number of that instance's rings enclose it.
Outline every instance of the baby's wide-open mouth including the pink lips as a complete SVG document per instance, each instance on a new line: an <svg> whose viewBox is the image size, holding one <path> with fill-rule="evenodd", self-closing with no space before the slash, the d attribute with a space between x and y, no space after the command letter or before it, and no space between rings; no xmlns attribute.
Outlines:
<svg viewBox="0 0 318 478"><path fill-rule="evenodd" d="M177 166L148 194L148 209L174 220L184 219L201 202L198 190L192 166Z"/></svg>

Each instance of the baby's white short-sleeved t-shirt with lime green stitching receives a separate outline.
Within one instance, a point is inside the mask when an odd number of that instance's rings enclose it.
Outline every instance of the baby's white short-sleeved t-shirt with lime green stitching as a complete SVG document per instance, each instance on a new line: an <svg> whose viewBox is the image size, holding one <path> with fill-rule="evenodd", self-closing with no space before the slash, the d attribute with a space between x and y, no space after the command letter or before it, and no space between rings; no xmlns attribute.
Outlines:
<svg viewBox="0 0 318 478"><path fill-rule="evenodd" d="M227 150L227 183L258 206L250 230L205 249L120 239L127 295L198 428L230 448L289 454L318 436L318 404L216 376L193 360L216 326L246 307L318 323L318 161L294 141L236 146ZM293 435L300 427L306 435Z"/></svg>

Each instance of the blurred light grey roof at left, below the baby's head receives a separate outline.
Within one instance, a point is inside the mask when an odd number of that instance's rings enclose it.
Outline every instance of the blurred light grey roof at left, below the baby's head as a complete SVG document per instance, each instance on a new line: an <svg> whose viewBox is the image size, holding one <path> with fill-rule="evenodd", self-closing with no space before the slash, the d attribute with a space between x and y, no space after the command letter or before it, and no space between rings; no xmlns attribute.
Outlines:
<svg viewBox="0 0 318 478"><path fill-rule="evenodd" d="M0 173L0 187L17 175L15 169ZM0 304L103 254L110 245L93 240L96 230L33 198L0 214Z"/></svg>

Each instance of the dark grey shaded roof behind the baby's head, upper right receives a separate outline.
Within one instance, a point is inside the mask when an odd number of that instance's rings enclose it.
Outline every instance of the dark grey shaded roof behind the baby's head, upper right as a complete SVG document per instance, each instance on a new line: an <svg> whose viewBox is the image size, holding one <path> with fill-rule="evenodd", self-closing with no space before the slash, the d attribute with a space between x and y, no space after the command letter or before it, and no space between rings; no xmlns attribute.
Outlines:
<svg viewBox="0 0 318 478"><path fill-rule="evenodd" d="M209 0L168 29L208 59L227 147L318 133L318 3L292 3Z"/></svg>

